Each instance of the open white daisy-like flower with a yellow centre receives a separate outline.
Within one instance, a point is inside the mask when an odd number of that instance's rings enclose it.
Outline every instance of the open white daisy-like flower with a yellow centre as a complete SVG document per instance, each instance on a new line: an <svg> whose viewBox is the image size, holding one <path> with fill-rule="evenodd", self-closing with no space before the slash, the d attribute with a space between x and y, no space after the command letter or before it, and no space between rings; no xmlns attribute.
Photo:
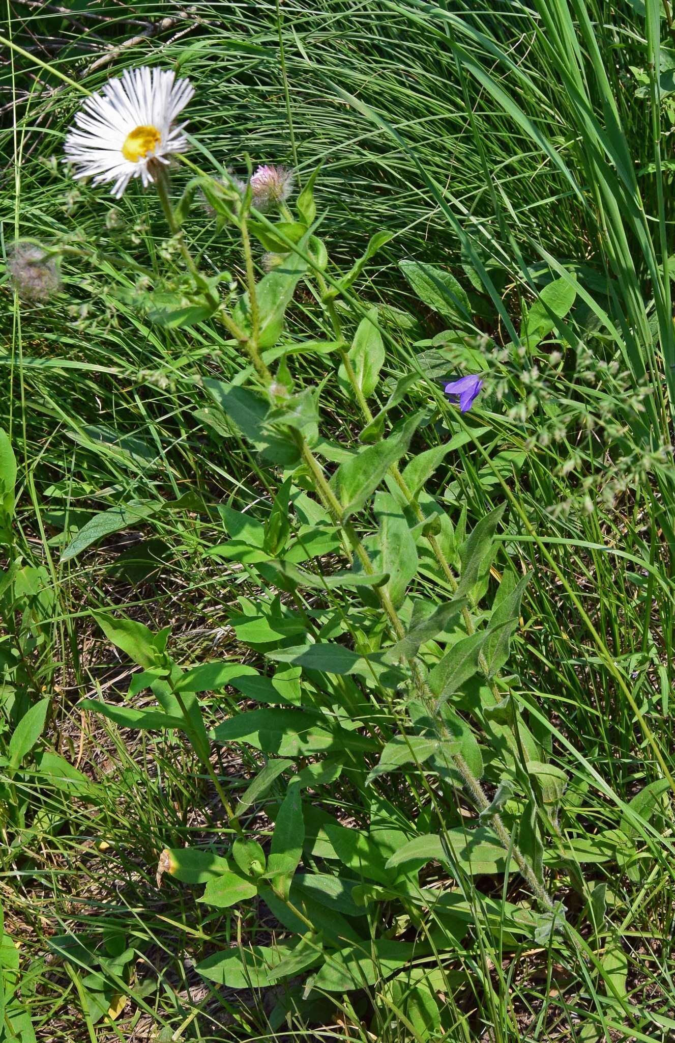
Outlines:
<svg viewBox="0 0 675 1043"><path fill-rule="evenodd" d="M94 185L115 181L119 199L132 177L144 186L154 180L155 164L169 163L188 147L184 123L174 120L195 93L186 79L162 69L125 69L101 94L86 99L66 138L66 156L75 177L94 177Z"/></svg>

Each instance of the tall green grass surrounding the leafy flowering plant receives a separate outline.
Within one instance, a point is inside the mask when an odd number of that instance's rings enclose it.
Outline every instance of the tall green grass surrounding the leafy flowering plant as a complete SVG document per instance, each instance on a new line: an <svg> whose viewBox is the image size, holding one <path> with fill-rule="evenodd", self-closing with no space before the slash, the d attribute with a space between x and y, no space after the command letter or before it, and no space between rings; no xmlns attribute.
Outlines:
<svg viewBox="0 0 675 1043"><path fill-rule="evenodd" d="M384 325L392 381L447 324L415 298L397 262L440 265L480 292L482 312L463 333L486 356L496 395L477 413L488 431L447 457L434 489L454 522L466 507L468 528L506 499L514 524L496 567L533 569L511 657L515 690L551 762L567 772L567 811L576 809L589 839L580 865L560 877L588 951L578 957L555 937L514 948L505 920L497 931L479 926L473 947L444 968L454 1019L445 1038L667 1040L675 1024L670 800L639 806L634 865L594 847L646 784L675 773L675 516L672 459L662 452L675 402L666 10L654 0L644 13L594 0L482 8L326 0L284 3L280 13L199 3L171 9L172 25L144 35L167 15L164 4L91 4L70 15L14 5L0 30L11 42L1 74L15 102L0 138L3 246L20 236L65 238L69 247L65 292L49 305L24 309L0 288L0 423L20 465L25 588L21 610L3 607L2 743L26 707L49 695L44 747L84 776L69 789L35 763L4 805L5 930L22 940L21 996L35 1036L420 1038L396 1011L365 1027L349 998L329 1008L322 1027L299 1003L272 1028L276 995L242 1004L208 991L193 965L215 940L222 947L225 927L188 889L154 884L162 848L222 846L208 779L178 738L139 739L77 707L82 696L127 687L128 666L101 640L92 610L116 606L153 629L171 623L174 656L185 664L249 661L228 608L240 596L259 597L249 572L211 553L227 536L198 511L153 515L75 561L59 560L83 522L114 505L192 492L261 516L270 494L259 461L231 440L225 453L203 414L203 378L233 374L234 345L214 323L158 330L128 302L132 265L161 264L154 198L134 187L105 221L103 193L75 187L60 166L79 102L74 84L96 90L152 62L175 64L195 82L190 129L222 167L241 173L247 154L292 163L294 146L302 181L322 165L322 235L339 264L374 231L395 232L355 301L404 313L398 324L390 313ZM242 274L233 238L213 220L193 212L186 236L206 270L229 265ZM92 242L95 253L82 248ZM541 358L504 351L554 277L574 281L577 293L560 344ZM297 336L321 321L300 296ZM553 349L559 364L549 362ZM540 375L525 385L533 362ZM322 365L298 368L320 380ZM336 401L331 422L332 438L347 441L355 407ZM425 437L433 444L439 433ZM436 598L431 572L424 582ZM231 689L205 697L214 721L241 704ZM244 747L226 753L223 776L236 795L259 766ZM398 796L403 806L407 795ZM348 780L322 791L320 803L346 821L365 814ZM262 817L259 828L267 835ZM592 896L585 909L575 873ZM501 897L501 881L465 887L472 907ZM227 926L232 941L240 931L260 944L270 930L255 908ZM79 938L84 949L55 964L54 936L71 946ZM133 950L132 963L111 970L127 1003L97 1021L82 983L111 957L116 939Z"/></svg>

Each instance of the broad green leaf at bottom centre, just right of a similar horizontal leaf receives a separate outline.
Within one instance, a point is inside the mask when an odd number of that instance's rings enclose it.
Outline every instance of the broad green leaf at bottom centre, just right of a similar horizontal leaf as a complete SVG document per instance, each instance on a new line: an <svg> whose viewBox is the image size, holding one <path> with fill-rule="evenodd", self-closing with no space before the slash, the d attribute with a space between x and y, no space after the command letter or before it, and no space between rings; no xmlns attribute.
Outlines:
<svg viewBox="0 0 675 1043"><path fill-rule="evenodd" d="M375 985L421 953L422 945L378 938L332 952L315 978L315 988L349 992Z"/></svg>

